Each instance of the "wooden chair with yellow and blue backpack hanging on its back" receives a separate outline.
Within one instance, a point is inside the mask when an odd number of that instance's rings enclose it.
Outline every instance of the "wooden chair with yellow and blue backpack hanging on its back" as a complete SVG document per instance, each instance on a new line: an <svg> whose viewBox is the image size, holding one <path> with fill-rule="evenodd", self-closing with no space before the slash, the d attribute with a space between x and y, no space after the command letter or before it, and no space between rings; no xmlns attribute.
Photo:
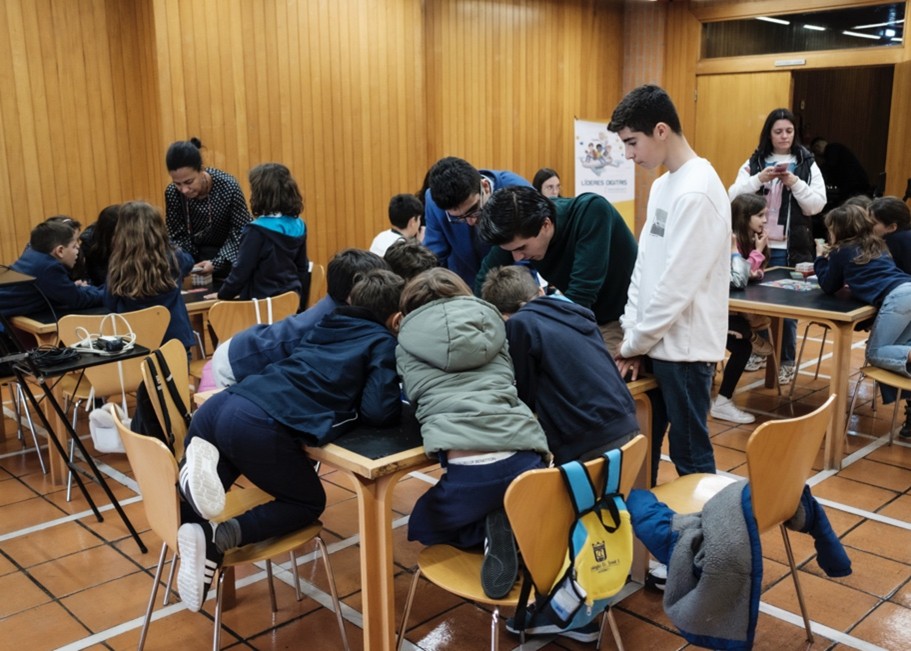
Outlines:
<svg viewBox="0 0 911 651"><path fill-rule="evenodd" d="M626 495L633 483L640 477L647 443L644 436L623 446L622 476L620 491ZM598 458L585 463L586 470L592 477L595 486L604 485L604 459ZM644 485L644 484L643 484ZM513 480L506 491L504 499L506 513L522 560L531 574L535 586L547 591L554 584L566 557L569 540L569 528L575 520L575 513L559 468L530 470ZM546 514L547 517L542 517ZM510 593L503 599L491 599L484 594L481 587L481 563L484 554L481 551L456 549L450 545L431 545L421 550L418 555L418 567L415 570L405 602L402 625L396 648L402 646L405 639L408 616L414 600L418 579L423 574L431 583L463 599L493 606L491 617L490 646L498 648L499 609L501 606L515 607L519 603L521 581L516 582ZM520 572L521 574L521 572ZM607 621L611 622L614 638L618 648L622 649L613 614L608 610ZM605 621L602 621L602 634ZM523 636L524 637L524 636ZM600 637L598 641L600 647Z"/></svg>

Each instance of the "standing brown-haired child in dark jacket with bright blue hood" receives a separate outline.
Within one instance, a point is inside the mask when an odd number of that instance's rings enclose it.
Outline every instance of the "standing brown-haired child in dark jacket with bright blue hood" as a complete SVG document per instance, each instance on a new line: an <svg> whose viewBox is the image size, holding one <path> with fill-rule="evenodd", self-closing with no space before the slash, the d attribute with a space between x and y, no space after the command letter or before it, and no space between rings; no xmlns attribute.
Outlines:
<svg viewBox="0 0 911 651"><path fill-rule="evenodd" d="M300 309L310 291L304 198L291 171L280 163L250 170L250 208L256 218L244 226L231 273L219 288L221 300L268 298L297 292Z"/></svg>

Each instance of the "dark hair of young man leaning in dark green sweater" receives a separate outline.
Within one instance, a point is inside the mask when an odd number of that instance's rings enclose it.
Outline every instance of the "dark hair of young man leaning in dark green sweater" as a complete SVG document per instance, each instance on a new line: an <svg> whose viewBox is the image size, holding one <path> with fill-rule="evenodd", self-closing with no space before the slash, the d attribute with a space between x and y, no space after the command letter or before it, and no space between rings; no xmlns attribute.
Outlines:
<svg viewBox="0 0 911 651"><path fill-rule="evenodd" d="M528 186L511 185L494 192L478 219L478 235L499 246L516 237L535 237L545 219L556 221L554 202Z"/></svg>

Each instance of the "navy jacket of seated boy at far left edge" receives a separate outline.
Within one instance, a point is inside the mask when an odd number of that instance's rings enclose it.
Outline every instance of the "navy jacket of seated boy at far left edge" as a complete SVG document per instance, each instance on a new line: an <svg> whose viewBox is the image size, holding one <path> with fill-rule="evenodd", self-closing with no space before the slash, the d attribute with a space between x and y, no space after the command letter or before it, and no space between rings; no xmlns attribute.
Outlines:
<svg viewBox="0 0 911 651"><path fill-rule="evenodd" d="M0 287L0 311L4 316L46 313L48 303L58 317L101 305L104 289L80 287L70 280L67 268L49 253L26 247L10 268L34 276L36 280L34 283Z"/></svg>

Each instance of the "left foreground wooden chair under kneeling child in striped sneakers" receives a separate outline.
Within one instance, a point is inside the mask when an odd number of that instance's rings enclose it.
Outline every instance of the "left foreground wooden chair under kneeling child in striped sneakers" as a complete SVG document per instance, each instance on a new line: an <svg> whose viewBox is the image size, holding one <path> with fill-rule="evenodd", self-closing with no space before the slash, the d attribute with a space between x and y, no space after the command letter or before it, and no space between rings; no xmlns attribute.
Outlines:
<svg viewBox="0 0 911 651"><path fill-rule="evenodd" d="M173 575L173 560L176 558L177 553L177 530L180 527L180 497L177 493L177 461L174 459L171 451L158 439L136 434L127 429L117 418L114 420L117 424L120 436L123 439L123 445L127 451L127 458L130 460L130 466L136 476L139 490L142 493L142 500L145 506L146 518L149 521L149 526L163 541L161 554L158 559L158 566L155 569L152 592L149 595L149 604L146 609L145 618L143 619L142 632L139 636L138 648L142 651L145 646L149 623L152 619L152 610L154 609L156 594L158 593L158 584L161 580L165 562L167 561L168 548L174 550L171 573ZM240 493L248 492L249 491L240 491ZM228 502L225 507L225 513L222 516L224 519L234 517L249 508L249 500L246 499L246 495L242 495L239 501L232 499L237 494L238 491L236 490L228 491ZM224 570L244 563L259 563L265 561L266 574L269 579L269 596L271 598L272 612L274 614L278 611L278 608L275 603L275 587L272 582L272 562L270 559L280 554L291 555L291 570L294 574L294 588L297 594L297 600L300 601L302 595L300 591L300 578L297 570L297 559L294 555L294 550L310 541L315 541L320 550L323 565L329 580L332 605L335 609L342 643L345 649L349 648L348 637L345 632L345 623L342 619L338 593L335 588L335 576L329 565L329 555L326 551L326 546L319 536L321 529L322 523L317 520L313 524L298 531L232 549L225 554L224 564L222 570L219 571L216 588L215 630L212 638L212 648L215 649L215 651L219 648L221 638L222 597L225 579ZM170 589L170 581L168 583L168 589Z"/></svg>

